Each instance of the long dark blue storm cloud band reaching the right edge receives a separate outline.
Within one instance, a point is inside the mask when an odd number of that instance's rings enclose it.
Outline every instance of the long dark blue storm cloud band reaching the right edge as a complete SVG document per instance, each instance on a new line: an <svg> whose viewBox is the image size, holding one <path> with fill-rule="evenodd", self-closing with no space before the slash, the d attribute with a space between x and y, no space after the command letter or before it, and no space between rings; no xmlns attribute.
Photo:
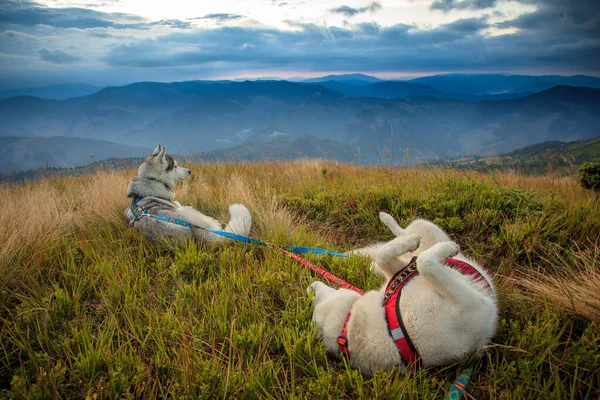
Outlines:
<svg viewBox="0 0 600 400"><path fill-rule="evenodd" d="M434 29L375 23L326 28L288 21L297 28L222 27L130 41L104 59L114 67L363 71L507 71L556 67L600 69L597 40L564 41L537 34L485 36L485 17L459 19ZM561 54L561 55L557 55Z"/></svg>

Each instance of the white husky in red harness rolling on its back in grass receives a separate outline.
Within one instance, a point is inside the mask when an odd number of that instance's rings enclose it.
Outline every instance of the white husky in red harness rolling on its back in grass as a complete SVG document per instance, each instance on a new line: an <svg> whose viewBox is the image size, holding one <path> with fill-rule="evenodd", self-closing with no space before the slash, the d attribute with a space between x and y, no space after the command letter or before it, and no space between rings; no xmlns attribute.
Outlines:
<svg viewBox="0 0 600 400"><path fill-rule="evenodd" d="M389 284L362 296L318 281L307 289L315 292L313 321L327 350L347 353L365 375L415 360L450 364L481 351L498 319L489 275L432 222L415 220L402 229L386 213L379 218L396 238L355 252L373 257ZM403 270L407 264L414 265Z"/></svg>

